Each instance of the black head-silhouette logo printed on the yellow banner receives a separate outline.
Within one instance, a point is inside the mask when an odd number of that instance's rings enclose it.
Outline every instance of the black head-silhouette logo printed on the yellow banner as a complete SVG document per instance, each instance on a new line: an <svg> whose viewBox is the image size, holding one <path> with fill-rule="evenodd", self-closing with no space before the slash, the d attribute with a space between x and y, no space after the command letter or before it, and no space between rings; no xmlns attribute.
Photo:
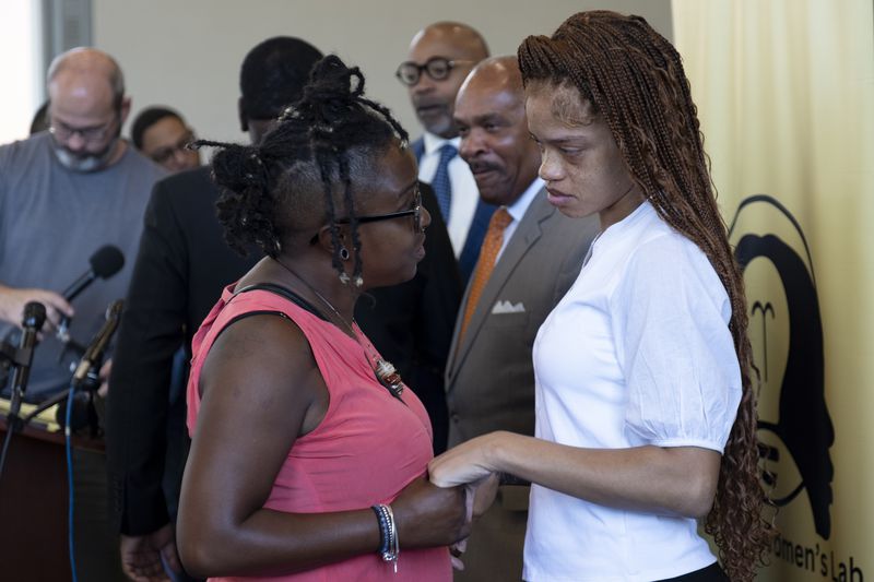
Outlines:
<svg viewBox="0 0 874 582"><path fill-rule="evenodd" d="M789 211L766 194L741 203L729 236L744 273L759 401L778 403L759 411L759 437L771 444L766 484L778 507L806 489L816 533L828 539L835 429L825 401L823 322L807 241Z"/></svg>

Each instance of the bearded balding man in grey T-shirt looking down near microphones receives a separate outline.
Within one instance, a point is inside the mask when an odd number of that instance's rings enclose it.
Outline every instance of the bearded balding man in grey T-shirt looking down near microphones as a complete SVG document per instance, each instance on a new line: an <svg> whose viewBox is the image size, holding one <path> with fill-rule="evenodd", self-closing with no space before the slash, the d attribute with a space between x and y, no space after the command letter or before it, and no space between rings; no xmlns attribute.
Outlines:
<svg viewBox="0 0 874 582"><path fill-rule="evenodd" d="M119 138L130 99L109 55L64 52L49 67L47 84L49 130L0 146L0 337L17 343L28 301L47 312L25 392L33 403L68 388L81 346L104 323L107 306L125 297L145 204L165 175ZM66 300L63 289L106 245L121 250L125 266ZM56 333L62 317L70 318L69 340ZM103 455L76 449L73 462L78 573L119 580Z"/></svg>

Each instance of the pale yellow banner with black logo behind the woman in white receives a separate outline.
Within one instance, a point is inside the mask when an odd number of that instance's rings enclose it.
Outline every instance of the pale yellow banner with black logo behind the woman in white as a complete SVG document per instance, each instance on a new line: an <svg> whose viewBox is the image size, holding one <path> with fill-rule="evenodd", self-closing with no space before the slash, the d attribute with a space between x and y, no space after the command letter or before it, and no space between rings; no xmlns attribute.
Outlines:
<svg viewBox="0 0 874 582"><path fill-rule="evenodd" d="M874 580L874 3L672 10L761 376L759 580Z"/></svg>

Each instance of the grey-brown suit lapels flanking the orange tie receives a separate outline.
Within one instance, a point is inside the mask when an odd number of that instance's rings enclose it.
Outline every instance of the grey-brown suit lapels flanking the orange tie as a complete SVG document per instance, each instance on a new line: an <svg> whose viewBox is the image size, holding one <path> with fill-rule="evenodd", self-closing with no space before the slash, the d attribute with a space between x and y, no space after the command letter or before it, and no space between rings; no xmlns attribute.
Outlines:
<svg viewBox="0 0 874 582"><path fill-rule="evenodd" d="M464 290L464 298L461 301L461 309L459 310L459 318L456 321L456 330L452 337L452 349L449 354L449 365L447 366L448 380L447 388L451 387L451 381L454 379L458 368L464 363L464 358L470 352L471 345L476 340L476 335L485 323L486 319L492 314L492 309L495 301L499 298L500 292L504 289L507 281L512 275L516 268L524 258L528 250L543 235L542 223L547 219L553 213L556 212L555 207L546 200L545 189L542 189L531 201L531 205L525 211L519 226L512 234L507 247L500 254L495 270L492 271L492 276L488 278L483 294L480 296L480 302L476 306L471 322L468 325L468 331L464 334L461 343L458 343L458 333L460 330L461 318L463 317L464 309L468 305L468 295L470 293L470 285Z"/></svg>

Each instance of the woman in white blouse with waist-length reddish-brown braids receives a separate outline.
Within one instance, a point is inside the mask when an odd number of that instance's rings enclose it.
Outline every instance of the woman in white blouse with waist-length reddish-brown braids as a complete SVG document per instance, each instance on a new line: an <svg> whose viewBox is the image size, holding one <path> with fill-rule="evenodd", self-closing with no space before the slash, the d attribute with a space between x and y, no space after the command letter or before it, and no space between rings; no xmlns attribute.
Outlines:
<svg viewBox="0 0 874 582"><path fill-rule="evenodd" d="M532 483L532 582L749 581L770 525L747 312L680 55L597 11L519 63L550 201L601 234L534 344L536 436L471 440L430 478Z"/></svg>

